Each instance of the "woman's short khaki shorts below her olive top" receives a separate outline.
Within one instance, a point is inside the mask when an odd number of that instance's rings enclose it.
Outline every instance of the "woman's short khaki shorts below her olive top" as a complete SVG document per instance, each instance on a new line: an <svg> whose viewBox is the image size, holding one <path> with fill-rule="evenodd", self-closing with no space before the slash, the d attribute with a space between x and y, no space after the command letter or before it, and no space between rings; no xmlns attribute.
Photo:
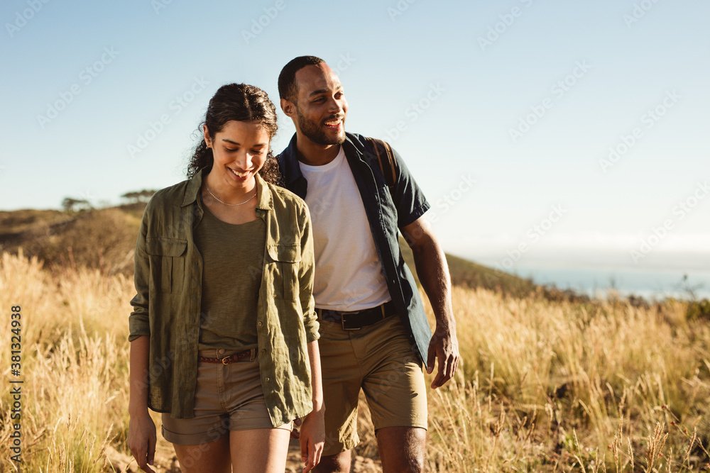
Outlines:
<svg viewBox="0 0 710 473"><path fill-rule="evenodd" d="M200 357L222 358L234 350L200 350ZM163 413L163 437L178 445L214 442L230 430L273 428L268 416L257 360L222 365L198 363L195 417L175 419ZM293 423L277 428L291 430Z"/></svg>

